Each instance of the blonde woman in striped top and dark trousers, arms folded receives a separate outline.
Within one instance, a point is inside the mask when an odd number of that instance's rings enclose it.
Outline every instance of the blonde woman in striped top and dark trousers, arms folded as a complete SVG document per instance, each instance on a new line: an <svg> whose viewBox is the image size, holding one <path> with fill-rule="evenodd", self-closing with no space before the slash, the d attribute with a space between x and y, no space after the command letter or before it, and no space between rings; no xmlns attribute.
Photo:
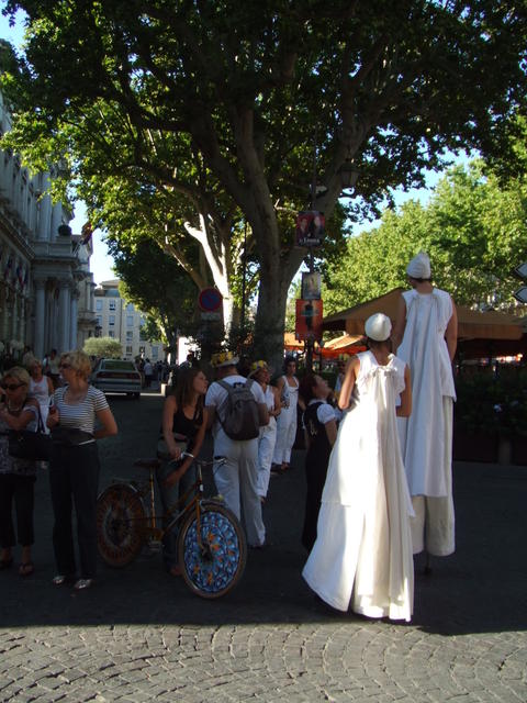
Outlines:
<svg viewBox="0 0 527 703"><path fill-rule="evenodd" d="M87 354L63 354L59 369L65 386L55 390L47 416L53 436L49 486L55 515L53 546L58 569L53 583L61 585L74 581L74 588L80 591L91 587L97 571L96 509L100 464L96 439L117 434L117 425L104 393L88 383L91 364ZM71 523L74 505L79 579L76 577Z"/></svg>

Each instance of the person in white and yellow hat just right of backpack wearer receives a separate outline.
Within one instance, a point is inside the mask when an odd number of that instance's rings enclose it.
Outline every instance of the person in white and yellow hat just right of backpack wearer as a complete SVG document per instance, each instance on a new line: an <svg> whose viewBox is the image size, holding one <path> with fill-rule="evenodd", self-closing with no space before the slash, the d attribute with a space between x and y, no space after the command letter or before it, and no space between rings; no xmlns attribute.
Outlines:
<svg viewBox="0 0 527 703"><path fill-rule="evenodd" d="M277 421L276 417L281 412L280 393L278 388L270 386L271 370L267 361L255 361L250 367L249 378L254 378L266 397L266 404L269 411L269 424L260 427L260 436L258 437L258 495L261 502L267 498L269 489L269 478L271 476L272 455L274 453L274 444L277 442Z"/></svg>

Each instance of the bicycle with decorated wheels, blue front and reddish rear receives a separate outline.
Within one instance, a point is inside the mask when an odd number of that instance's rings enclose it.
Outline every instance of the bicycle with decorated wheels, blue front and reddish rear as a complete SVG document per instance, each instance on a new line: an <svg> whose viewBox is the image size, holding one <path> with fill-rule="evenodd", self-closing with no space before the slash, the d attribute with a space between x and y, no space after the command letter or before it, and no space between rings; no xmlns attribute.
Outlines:
<svg viewBox="0 0 527 703"><path fill-rule="evenodd" d="M166 514L157 515L154 472L161 462L135 461L134 466L149 471L148 481L116 479L97 500L98 547L103 561L110 567L124 567L147 543L159 546L164 535L178 525L178 558L187 585L206 599L228 593L244 572L247 543L238 520L222 500L203 496L202 468L214 464L225 464L225 459L195 459L194 484ZM192 500L186 505L192 492ZM159 527L167 517L167 527Z"/></svg>

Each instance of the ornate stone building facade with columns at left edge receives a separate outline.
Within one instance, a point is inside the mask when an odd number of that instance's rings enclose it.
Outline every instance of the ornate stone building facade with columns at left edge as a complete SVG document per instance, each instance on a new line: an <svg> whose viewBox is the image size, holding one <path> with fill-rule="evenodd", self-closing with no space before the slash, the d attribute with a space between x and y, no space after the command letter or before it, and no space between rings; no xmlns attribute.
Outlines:
<svg viewBox="0 0 527 703"><path fill-rule="evenodd" d="M0 129L10 129L0 94ZM32 176L0 150L0 341L42 358L82 348L96 334L91 241L71 235L71 213L45 194L53 174Z"/></svg>

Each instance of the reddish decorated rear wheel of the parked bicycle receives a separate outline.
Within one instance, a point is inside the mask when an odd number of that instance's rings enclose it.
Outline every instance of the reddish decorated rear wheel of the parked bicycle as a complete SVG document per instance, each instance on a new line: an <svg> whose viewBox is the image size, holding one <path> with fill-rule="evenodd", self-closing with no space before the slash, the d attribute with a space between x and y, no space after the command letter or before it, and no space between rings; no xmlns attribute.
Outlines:
<svg viewBox="0 0 527 703"><path fill-rule="evenodd" d="M146 511L133 486L114 483L97 500L97 545L111 567L124 567L145 543Z"/></svg>

